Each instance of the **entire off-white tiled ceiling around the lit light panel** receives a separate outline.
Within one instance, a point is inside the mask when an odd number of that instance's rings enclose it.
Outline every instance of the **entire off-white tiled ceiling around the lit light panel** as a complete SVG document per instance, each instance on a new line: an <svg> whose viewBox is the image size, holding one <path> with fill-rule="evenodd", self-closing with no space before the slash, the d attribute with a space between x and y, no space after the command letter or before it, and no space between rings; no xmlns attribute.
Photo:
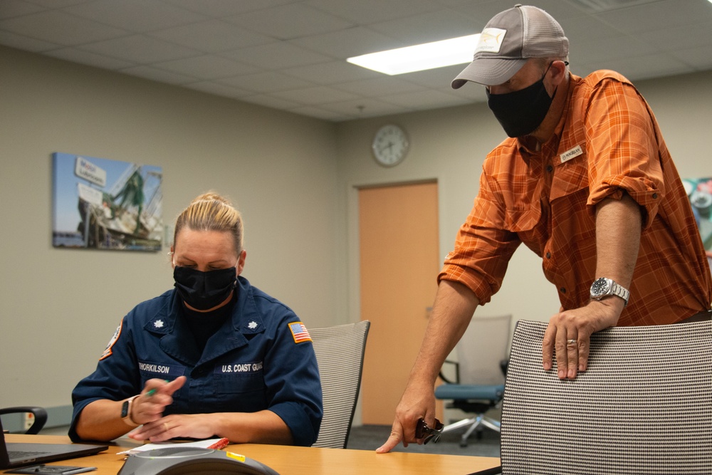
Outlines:
<svg viewBox="0 0 712 475"><path fill-rule="evenodd" d="M565 29L577 75L610 68L638 80L712 70L712 3L642 1L600 14L580 0L535 3ZM474 33L508 7L502 0L0 0L0 45L341 121L486 101L480 85L450 88L464 64L388 76L345 58Z"/></svg>

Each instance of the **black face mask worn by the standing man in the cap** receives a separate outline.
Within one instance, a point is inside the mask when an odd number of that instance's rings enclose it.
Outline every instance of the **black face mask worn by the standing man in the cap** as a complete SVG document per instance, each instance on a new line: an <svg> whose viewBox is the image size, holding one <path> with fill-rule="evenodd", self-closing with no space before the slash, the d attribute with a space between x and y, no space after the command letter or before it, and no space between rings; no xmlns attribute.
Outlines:
<svg viewBox="0 0 712 475"><path fill-rule="evenodd" d="M546 68L540 80L513 93L490 94L487 90L487 105L508 136L528 135L534 132L546 117L556 95L554 90L553 95L549 97L544 87L544 78L549 68Z"/></svg>

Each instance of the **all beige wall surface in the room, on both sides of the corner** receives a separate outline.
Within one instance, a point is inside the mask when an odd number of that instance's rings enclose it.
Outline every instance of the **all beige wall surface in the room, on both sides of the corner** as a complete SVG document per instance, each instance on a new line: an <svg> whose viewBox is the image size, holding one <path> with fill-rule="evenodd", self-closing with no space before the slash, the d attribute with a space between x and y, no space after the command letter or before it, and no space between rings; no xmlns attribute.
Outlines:
<svg viewBox="0 0 712 475"><path fill-rule="evenodd" d="M683 176L712 175L709 84L712 72L639 84ZM412 142L392 169L370 155L385 122ZM0 47L0 406L69 404L120 318L172 286L165 251L52 248L52 152L163 167L167 223L206 189L229 195L244 275L315 327L359 319L355 187L437 179L441 261L502 138L482 104L332 124ZM545 320L557 306L523 248L479 311Z"/></svg>

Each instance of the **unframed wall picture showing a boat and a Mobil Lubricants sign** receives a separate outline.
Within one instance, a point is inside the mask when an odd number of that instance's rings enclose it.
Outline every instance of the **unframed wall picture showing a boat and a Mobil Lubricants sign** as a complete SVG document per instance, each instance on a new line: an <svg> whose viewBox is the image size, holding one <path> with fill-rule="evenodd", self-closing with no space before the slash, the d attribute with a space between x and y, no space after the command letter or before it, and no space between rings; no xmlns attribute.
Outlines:
<svg viewBox="0 0 712 475"><path fill-rule="evenodd" d="M161 167L53 153L54 247L160 251Z"/></svg>

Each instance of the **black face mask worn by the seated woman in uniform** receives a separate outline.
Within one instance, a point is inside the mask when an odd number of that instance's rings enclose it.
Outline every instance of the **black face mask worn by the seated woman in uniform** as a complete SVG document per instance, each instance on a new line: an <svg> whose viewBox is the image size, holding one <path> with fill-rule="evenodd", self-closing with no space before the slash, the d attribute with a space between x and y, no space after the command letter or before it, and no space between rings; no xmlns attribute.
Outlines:
<svg viewBox="0 0 712 475"><path fill-rule="evenodd" d="M173 278L185 303L196 310L208 310L219 306L230 296L236 287L236 272L234 267L203 272L176 266Z"/></svg>

